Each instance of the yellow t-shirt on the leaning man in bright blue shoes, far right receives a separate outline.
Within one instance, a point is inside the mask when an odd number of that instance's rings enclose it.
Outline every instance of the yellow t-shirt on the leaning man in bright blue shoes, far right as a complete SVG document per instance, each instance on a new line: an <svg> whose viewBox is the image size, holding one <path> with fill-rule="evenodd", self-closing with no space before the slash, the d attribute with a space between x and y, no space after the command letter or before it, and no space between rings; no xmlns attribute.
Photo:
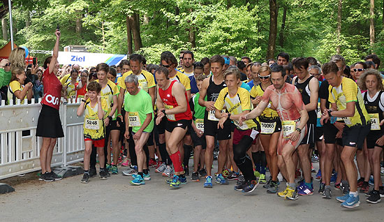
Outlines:
<svg viewBox="0 0 384 222"><path fill-rule="evenodd" d="M355 126L356 124L365 125L369 123L370 118L365 109L364 100L360 88L357 87L355 81L350 78L343 77L339 87L328 87L330 91L330 103L336 103L337 110L345 110L346 104L355 102L355 115L353 117L342 118L347 126Z"/></svg>

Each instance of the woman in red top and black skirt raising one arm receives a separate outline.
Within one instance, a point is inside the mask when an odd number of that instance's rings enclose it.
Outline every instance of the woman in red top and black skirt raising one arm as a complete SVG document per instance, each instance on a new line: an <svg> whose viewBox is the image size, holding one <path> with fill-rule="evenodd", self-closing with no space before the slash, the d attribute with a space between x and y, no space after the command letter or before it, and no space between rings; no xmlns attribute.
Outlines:
<svg viewBox="0 0 384 222"><path fill-rule="evenodd" d="M61 90L63 86L57 78L59 71L59 40L60 31L56 30L56 43L54 44L52 57L47 57L44 61L45 71L43 73L44 96L41 104L43 107L38 117L36 136L43 138L40 149L40 166L41 174L39 180L52 182L61 179L51 170L51 161L53 147L56 145L57 138L64 137L63 128L61 126L59 116L59 106L61 99Z"/></svg>

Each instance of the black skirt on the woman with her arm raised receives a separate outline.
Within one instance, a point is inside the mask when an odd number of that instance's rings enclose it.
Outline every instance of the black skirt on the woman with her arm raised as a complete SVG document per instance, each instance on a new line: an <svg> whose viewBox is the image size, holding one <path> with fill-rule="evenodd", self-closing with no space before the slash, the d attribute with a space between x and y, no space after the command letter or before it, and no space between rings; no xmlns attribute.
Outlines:
<svg viewBox="0 0 384 222"><path fill-rule="evenodd" d="M64 132L61 126L59 110L43 105L36 129L36 136L43 138L63 138Z"/></svg>

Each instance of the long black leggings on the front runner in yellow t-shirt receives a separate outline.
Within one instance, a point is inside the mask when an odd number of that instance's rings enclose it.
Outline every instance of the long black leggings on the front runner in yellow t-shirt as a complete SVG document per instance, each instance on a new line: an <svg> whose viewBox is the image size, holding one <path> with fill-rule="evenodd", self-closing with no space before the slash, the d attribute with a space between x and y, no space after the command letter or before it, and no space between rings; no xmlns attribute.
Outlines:
<svg viewBox="0 0 384 222"><path fill-rule="evenodd" d="M233 145L233 159L237 167L242 171L246 181L256 180L255 175L253 175L251 158L246 155L246 151L251 148L252 142L253 139L250 136L245 135L242 140L240 140L239 144Z"/></svg>

